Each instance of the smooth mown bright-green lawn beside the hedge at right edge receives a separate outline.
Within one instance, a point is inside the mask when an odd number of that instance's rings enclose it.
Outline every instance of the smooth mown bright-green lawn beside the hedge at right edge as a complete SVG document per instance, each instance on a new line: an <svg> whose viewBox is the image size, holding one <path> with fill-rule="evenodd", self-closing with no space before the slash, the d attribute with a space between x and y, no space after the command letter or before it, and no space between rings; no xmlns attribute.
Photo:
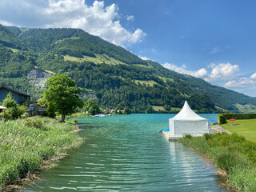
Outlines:
<svg viewBox="0 0 256 192"><path fill-rule="evenodd" d="M236 120L234 122L229 122L222 124L221 126L229 130L231 133L237 133L247 138L252 142L256 142L256 119L244 119ZM238 124L237 126L230 126L231 124Z"/></svg>

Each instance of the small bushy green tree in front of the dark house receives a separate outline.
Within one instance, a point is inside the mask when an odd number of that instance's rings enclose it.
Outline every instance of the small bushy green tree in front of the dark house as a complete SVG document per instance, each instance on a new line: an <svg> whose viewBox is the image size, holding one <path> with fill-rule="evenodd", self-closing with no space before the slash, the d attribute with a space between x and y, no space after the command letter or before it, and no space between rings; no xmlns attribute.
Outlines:
<svg viewBox="0 0 256 192"><path fill-rule="evenodd" d="M18 106L11 93L7 94L7 97L2 102L2 106L7 108L2 113L2 117L6 120L20 118L26 112L26 107Z"/></svg>

